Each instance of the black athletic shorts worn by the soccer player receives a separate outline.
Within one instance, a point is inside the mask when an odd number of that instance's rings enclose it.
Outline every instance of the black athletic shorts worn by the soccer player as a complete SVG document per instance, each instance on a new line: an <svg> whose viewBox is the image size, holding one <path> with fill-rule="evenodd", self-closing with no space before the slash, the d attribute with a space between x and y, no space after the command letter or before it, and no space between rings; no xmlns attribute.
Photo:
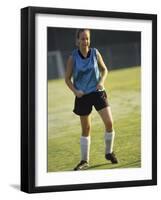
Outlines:
<svg viewBox="0 0 161 200"><path fill-rule="evenodd" d="M73 112L80 116L89 115L92 111L92 106L97 111L109 106L105 91L92 92L80 98L75 97Z"/></svg>

